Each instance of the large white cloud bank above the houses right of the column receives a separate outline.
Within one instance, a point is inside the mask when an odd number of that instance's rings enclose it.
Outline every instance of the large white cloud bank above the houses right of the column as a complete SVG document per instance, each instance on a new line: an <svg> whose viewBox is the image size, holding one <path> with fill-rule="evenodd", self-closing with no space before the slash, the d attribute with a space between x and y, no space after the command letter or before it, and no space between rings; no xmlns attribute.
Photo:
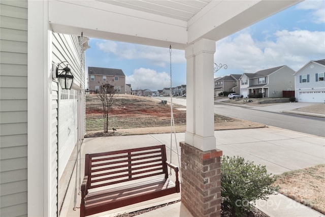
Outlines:
<svg viewBox="0 0 325 217"><path fill-rule="evenodd" d="M274 33L274 37L275 40L254 41L243 31L234 38L220 40L216 44L215 63L228 65L223 74L232 70L241 74L282 65L297 71L310 60L324 58L324 32L282 30Z"/></svg>

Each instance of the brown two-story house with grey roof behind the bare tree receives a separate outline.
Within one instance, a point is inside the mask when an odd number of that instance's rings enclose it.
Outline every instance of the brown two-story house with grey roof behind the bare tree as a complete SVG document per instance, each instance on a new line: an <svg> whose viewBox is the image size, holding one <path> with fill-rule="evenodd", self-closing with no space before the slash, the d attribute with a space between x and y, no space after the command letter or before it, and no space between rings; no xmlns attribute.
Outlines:
<svg viewBox="0 0 325 217"><path fill-rule="evenodd" d="M125 75L121 69L88 67L90 92L99 92L105 84L113 85L117 94L125 94Z"/></svg>

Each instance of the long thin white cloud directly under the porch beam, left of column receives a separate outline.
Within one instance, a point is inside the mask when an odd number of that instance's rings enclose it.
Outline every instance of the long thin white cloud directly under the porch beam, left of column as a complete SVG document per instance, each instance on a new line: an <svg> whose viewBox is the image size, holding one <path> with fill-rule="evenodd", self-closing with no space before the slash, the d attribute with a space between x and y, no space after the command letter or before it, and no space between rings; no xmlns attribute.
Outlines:
<svg viewBox="0 0 325 217"><path fill-rule="evenodd" d="M100 41L96 46L107 53L123 59L147 59L151 65L166 67L170 61L169 48L129 44L124 42ZM185 63L184 51L172 49L173 63Z"/></svg>

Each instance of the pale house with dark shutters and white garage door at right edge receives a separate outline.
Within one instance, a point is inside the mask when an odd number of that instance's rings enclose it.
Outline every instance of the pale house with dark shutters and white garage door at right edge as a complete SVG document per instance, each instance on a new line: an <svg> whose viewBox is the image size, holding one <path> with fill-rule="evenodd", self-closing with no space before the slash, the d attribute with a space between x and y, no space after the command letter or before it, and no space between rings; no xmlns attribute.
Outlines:
<svg viewBox="0 0 325 217"><path fill-rule="evenodd" d="M295 75L298 102L325 102L325 59L309 61Z"/></svg>

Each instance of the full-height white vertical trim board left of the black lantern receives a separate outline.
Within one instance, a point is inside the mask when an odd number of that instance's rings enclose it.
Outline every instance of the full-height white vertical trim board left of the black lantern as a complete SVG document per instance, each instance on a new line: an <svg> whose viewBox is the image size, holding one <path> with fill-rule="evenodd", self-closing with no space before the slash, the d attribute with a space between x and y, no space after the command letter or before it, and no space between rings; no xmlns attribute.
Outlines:
<svg viewBox="0 0 325 217"><path fill-rule="evenodd" d="M51 216L48 1L28 1L28 216Z"/></svg>

